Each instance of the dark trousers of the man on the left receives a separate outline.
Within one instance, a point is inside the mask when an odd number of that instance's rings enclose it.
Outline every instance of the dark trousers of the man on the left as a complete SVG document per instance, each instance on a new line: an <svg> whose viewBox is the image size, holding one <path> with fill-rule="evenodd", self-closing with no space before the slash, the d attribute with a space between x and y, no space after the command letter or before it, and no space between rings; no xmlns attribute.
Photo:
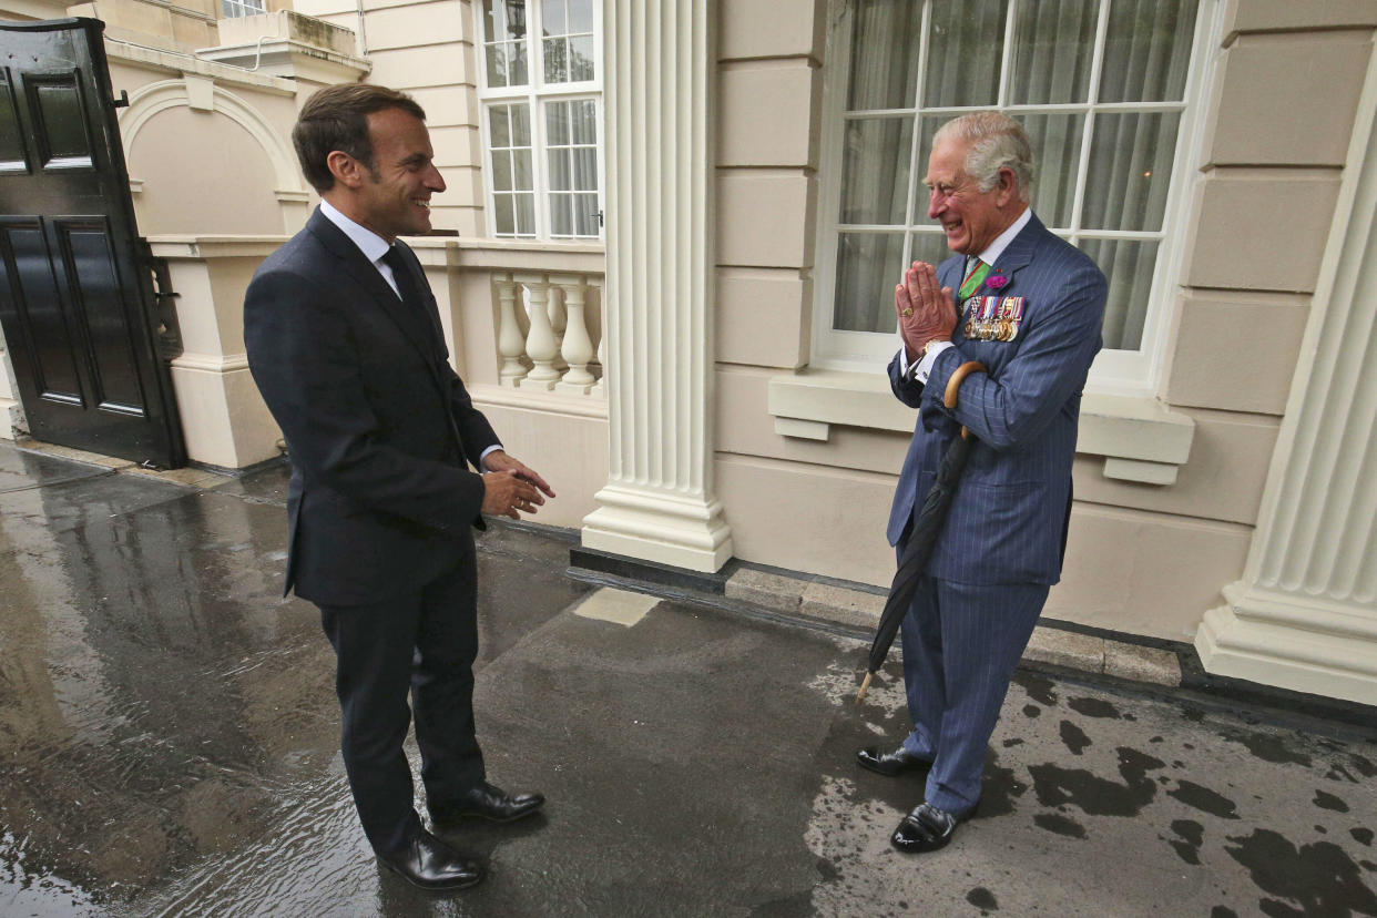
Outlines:
<svg viewBox="0 0 1377 918"><path fill-rule="evenodd" d="M344 769L364 833L383 853L420 829L402 749L413 712L428 800L454 798L485 779L474 728L478 570L471 540L467 548L416 592L319 607L336 655Z"/></svg>

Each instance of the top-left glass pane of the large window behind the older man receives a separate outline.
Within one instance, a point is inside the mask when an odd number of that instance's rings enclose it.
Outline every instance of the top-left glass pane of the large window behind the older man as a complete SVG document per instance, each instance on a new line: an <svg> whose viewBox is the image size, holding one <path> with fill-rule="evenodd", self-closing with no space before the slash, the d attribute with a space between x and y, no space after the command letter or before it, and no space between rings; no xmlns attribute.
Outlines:
<svg viewBox="0 0 1377 918"><path fill-rule="evenodd" d="M913 107L921 14L918 0L858 4L851 33L848 110Z"/></svg>

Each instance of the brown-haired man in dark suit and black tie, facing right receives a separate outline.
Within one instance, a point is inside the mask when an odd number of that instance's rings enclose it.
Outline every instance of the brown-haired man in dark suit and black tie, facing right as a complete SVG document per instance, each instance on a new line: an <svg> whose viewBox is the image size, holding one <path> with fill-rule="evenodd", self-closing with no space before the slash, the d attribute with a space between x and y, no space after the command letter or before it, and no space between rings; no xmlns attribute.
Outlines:
<svg viewBox="0 0 1377 918"><path fill-rule="evenodd" d="M384 866L457 889L481 867L421 826L402 740L414 712L437 831L544 802L486 780L470 527L482 513L519 519L554 493L472 406L420 263L397 238L430 231L431 194L445 190L424 118L383 87L306 102L292 139L321 205L253 275L244 341L292 460L285 589L319 607L335 647L359 822Z"/></svg>

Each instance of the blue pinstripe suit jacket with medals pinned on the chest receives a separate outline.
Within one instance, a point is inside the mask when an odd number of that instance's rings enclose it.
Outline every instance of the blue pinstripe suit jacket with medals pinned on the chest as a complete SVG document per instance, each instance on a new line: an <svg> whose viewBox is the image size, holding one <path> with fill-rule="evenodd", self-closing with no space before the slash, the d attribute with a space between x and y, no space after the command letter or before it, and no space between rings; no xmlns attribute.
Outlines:
<svg viewBox="0 0 1377 918"><path fill-rule="evenodd" d="M938 281L961 285L964 259L947 259ZM938 355L927 387L890 363L890 384L918 423L890 512L890 544L932 486L946 446L964 424L978 439L957 487L927 573L963 584L1055 584L1071 505L1071 460L1081 389L1100 350L1107 284L1084 252L1033 216L993 266L1008 278L979 295L1023 297L1011 341L975 340L958 315L954 347ZM958 304L958 311L961 310ZM987 374L961 384L954 412L942 405L961 363L980 361Z"/></svg>

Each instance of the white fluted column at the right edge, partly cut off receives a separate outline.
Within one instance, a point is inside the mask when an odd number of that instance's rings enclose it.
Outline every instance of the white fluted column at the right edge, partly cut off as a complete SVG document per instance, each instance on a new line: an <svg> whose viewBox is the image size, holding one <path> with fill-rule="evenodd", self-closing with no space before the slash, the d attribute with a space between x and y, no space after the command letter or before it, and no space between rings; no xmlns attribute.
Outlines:
<svg viewBox="0 0 1377 918"><path fill-rule="evenodd" d="M1367 705L1377 705L1374 84L1248 567L1195 636L1212 673Z"/></svg>

